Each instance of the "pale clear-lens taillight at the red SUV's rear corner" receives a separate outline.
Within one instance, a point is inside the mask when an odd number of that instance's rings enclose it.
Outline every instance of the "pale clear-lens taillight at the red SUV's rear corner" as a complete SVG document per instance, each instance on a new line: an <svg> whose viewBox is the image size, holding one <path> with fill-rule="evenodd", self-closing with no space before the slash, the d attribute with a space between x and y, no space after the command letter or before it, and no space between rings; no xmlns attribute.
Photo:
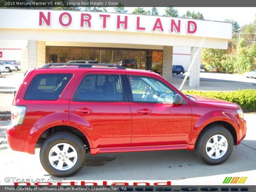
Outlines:
<svg viewBox="0 0 256 192"><path fill-rule="evenodd" d="M25 113L26 113L26 107L25 106L12 106L12 125L21 125L23 123Z"/></svg>

